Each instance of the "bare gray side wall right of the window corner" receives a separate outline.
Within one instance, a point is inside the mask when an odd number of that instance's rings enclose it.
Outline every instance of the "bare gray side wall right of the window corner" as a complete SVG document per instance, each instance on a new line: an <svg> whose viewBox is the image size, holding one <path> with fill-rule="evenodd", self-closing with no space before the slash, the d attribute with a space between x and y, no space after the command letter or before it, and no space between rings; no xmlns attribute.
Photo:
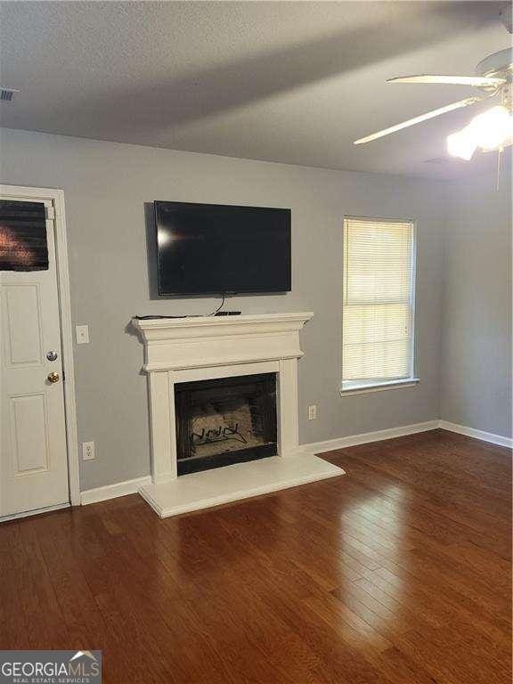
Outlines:
<svg viewBox="0 0 513 684"><path fill-rule="evenodd" d="M511 436L511 173L450 183L442 418Z"/></svg>

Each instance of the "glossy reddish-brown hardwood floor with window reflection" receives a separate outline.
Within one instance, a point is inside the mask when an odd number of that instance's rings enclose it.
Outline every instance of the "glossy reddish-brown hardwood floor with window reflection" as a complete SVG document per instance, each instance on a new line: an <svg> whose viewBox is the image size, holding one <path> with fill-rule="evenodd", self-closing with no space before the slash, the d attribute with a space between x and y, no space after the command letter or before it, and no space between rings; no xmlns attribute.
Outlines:
<svg viewBox="0 0 513 684"><path fill-rule="evenodd" d="M183 517L0 525L0 648L101 648L120 684L509 684L509 455L436 430Z"/></svg>

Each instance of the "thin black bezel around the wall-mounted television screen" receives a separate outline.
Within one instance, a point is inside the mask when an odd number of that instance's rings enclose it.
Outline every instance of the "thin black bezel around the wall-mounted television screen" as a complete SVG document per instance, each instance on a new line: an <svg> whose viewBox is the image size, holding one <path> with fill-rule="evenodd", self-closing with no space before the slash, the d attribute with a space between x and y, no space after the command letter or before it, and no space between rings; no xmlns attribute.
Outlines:
<svg viewBox="0 0 513 684"><path fill-rule="evenodd" d="M280 288L272 288L272 287L265 287L263 289L255 289L252 287L249 288L225 288L223 290L217 290L217 289L197 289L197 290L188 290L188 291L182 291L182 290L174 290L172 292L167 291L163 292L161 288L161 281L160 281L160 250L159 250L159 239L158 239L158 234L159 234L159 224L158 224L158 219L157 219L157 206L159 204L166 204L166 205L175 205L176 207L223 207L223 208L240 208L240 209L262 209L264 211L266 210L273 210L276 209L277 211L282 211L286 214L287 216L287 224L285 226L286 230L286 239L287 239L287 255L288 255L288 268L287 268L287 278L286 278L286 284L285 287L280 287ZM155 199L153 201L153 215L154 215L154 220L155 220L155 248L157 252L157 287L159 291L159 297L187 297L187 296L212 296L212 295L240 295L240 294L266 294L266 293L278 293L278 292L290 292L292 289L292 240L291 240L291 226L292 226L292 210L290 208L282 208L282 207L254 207L252 205L246 205L246 204L208 204L204 202L181 202L181 201L175 201L175 200L167 200L167 199Z"/></svg>

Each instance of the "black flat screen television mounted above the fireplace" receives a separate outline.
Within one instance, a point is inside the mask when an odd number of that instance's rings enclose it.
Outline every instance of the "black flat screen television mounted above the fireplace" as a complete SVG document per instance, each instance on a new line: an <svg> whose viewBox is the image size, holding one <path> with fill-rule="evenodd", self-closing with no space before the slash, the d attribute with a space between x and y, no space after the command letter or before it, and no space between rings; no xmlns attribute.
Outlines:
<svg viewBox="0 0 513 684"><path fill-rule="evenodd" d="M290 289L290 209L155 202L159 295Z"/></svg>

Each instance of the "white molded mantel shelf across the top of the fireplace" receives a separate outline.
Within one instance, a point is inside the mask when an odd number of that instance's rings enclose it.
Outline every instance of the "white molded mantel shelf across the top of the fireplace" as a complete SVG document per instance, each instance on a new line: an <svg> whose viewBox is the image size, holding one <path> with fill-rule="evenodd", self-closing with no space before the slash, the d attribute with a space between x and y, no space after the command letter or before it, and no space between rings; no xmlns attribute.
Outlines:
<svg viewBox="0 0 513 684"><path fill-rule="evenodd" d="M143 371L179 371L297 359L299 330L314 314L253 314L133 320L145 347Z"/></svg>

